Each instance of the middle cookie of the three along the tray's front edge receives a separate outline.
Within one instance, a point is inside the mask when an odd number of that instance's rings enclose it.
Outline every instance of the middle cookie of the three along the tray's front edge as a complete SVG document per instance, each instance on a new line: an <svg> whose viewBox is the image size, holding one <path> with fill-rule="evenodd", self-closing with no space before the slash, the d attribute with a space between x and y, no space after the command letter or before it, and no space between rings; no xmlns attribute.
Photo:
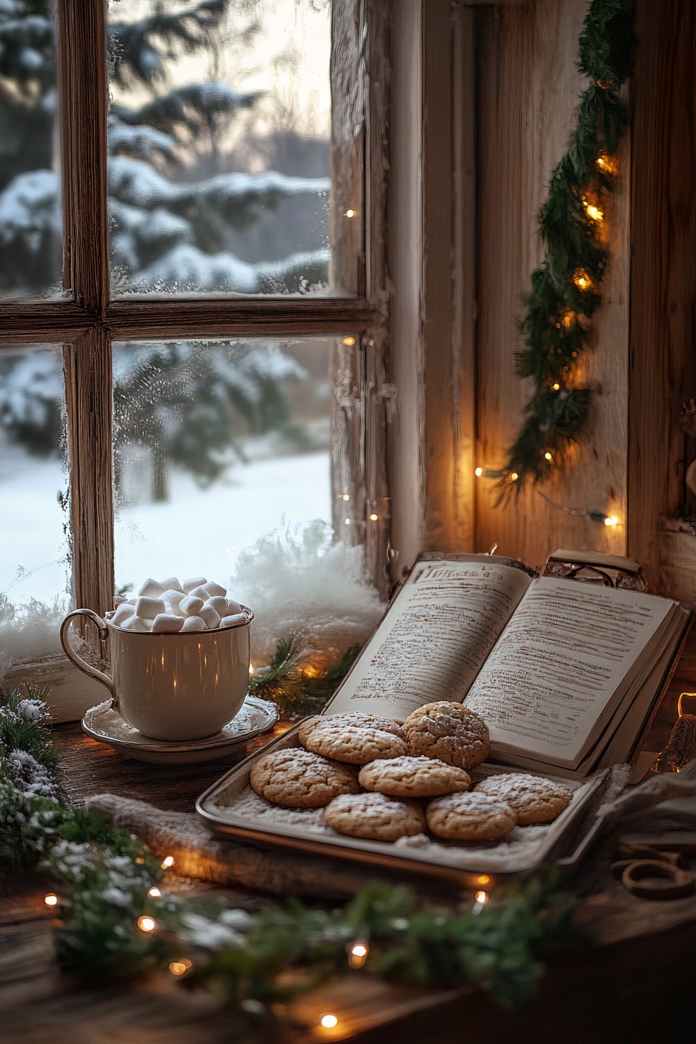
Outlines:
<svg viewBox="0 0 696 1044"><path fill-rule="evenodd" d="M436 837L457 841L494 841L518 822L509 805L478 790L433 798L426 806L426 820Z"/></svg>

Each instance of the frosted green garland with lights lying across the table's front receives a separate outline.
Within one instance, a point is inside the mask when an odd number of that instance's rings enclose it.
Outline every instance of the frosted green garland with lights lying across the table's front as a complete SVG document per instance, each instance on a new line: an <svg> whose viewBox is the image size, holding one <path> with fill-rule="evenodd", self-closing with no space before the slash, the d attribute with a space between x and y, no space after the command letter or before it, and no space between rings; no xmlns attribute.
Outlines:
<svg viewBox="0 0 696 1044"><path fill-rule="evenodd" d="M68 974L113 981L168 969L182 986L226 997L240 1025L283 1016L294 996L338 974L471 982L510 1006L543 974L536 944L568 935L573 900L551 879L500 888L459 915L377 882L331 911L292 901L249 915L217 898L183 899L164 886L169 860L63 803L45 695L0 690L0 865L39 863L55 882L46 898Z"/></svg>

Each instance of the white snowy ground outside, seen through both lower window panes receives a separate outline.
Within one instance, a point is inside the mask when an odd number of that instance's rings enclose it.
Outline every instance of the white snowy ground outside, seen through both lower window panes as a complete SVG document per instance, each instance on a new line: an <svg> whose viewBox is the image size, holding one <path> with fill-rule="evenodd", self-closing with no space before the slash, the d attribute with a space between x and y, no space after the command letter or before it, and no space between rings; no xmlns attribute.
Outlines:
<svg viewBox="0 0 696 1044"><path fill-rule="evenodd" d="M3 448L0 494L0 592L23 604L52 603L66 592L66 518L57 501L67 476L56 460ZM171 499L120 508L116 584L205 575L225 587L241 551L281 525L291 531L331 519L330 455L323 452L238 465L208 490L175 472ZM18 576L18 570L22 575Z"/></svg>

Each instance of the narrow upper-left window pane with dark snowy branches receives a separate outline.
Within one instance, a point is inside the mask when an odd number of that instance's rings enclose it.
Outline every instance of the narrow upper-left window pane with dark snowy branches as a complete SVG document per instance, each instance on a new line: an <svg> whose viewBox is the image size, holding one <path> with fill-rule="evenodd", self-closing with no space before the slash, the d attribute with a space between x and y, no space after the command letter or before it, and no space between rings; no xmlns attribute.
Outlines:
<svg viewBox="0 0 696 1044"><path fill-rule="evenodd" d="M0 298L59 296L55 32L47 0L0 3Z"/></svg>

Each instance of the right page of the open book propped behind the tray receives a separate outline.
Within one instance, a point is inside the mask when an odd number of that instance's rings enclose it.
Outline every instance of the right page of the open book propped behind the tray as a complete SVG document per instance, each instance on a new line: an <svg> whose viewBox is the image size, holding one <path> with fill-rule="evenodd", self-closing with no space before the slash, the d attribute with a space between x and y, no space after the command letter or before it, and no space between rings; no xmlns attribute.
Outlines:
<svg viewBox="0 0 696 1044"><path fill-rule="evenodd" d="M465 704L488 722L499 751L574 767L674 606L575 580L532 580Z"/></svg>

